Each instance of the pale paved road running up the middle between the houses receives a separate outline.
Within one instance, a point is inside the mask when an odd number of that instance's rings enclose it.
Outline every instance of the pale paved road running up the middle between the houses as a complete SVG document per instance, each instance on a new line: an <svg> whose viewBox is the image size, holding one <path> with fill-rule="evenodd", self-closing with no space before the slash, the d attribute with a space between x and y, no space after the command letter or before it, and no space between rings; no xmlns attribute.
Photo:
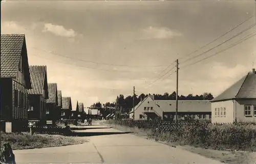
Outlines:
<svg viewBox="0 0 256 164"><path fill-rule="evenodd" d="M84 126L83 126L84 127ZM87 126L88 127L88 126ZM180 148L146 140L102 125L78 130L88 132L88 143L72 146L15 150L19 163L221 163Z"/></svg>

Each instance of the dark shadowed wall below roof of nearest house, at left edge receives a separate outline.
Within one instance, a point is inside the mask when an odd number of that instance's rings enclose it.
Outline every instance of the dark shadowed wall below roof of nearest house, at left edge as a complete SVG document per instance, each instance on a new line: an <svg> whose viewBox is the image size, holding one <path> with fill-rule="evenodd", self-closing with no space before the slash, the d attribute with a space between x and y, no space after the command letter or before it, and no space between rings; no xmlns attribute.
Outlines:
<svg viewBox="0 0 256 164"><path fill-rule="evenodd" d="M1 78L1 120L11 120L12 116L12 79Z"/></svg>

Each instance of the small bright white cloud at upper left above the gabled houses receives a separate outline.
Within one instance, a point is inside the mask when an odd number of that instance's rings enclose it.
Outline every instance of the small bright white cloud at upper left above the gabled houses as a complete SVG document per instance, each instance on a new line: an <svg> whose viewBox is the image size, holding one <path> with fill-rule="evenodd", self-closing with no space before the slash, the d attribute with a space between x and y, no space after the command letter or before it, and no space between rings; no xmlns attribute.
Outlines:
<svg viewBox="0 0 256 164"><path fill-rule="evenodd" d="M56 36L72 38L77 36L77 33L72 29L65 29L62 25L45 23L42 32L51 32Z"/></svg>

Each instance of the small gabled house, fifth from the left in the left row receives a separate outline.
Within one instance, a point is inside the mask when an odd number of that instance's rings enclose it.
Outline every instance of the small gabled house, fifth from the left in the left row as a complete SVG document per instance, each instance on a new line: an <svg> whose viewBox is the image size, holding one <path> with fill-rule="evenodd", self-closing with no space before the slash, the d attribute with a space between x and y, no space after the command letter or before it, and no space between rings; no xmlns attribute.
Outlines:
<svg viewBox="0 0 256 164"><path fill-rule="evenodd" d="M71 97L62 97L61 119L70 119L72 111Z"/></svg>

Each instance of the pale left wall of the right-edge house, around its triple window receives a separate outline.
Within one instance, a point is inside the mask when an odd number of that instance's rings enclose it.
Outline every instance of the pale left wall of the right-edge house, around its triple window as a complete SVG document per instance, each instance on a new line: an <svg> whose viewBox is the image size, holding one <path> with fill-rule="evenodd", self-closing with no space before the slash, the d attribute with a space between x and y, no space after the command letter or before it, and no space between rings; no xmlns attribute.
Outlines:
<svg viewBox="0 0 256 164"><path fill-rule="evenodd" d="M221 107L226 108L226 115L221 115ZM215 108L217 108L217 115L215 113ZM220 113L218 115L218 108L220 108ZM234 122L234 110L233 101L220 101L211 102L211 122L212 123L233 123Z"/></svg>

